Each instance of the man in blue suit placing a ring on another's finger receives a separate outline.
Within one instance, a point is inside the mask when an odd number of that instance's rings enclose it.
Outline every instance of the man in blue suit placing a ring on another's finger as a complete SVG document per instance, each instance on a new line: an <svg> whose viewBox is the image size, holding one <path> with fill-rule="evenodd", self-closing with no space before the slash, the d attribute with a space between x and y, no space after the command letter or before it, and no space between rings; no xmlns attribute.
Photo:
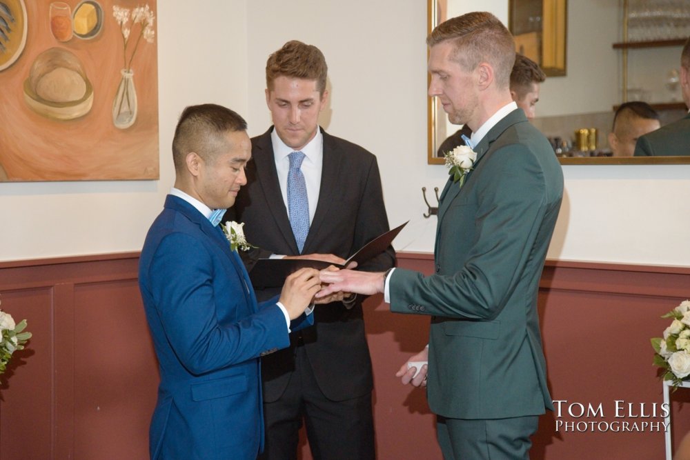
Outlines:
<svg viewBox="0 0 690 460"><path fill-rule="evenodd" d="M161 383L152 459L255 459L264 422L259 357L290 344L319 290L317 270L257 304L236 250L217 226L246 183L246 122L206 104L182 112L172 140L175 186L152 224L139 287ZM295 320L290 323L290 320Z"/></svg>

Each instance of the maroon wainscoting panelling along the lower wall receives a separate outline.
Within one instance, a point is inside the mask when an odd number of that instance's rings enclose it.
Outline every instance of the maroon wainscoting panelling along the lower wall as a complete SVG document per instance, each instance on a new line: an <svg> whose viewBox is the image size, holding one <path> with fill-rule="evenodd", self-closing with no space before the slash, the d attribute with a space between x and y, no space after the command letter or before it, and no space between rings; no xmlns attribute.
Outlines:
<svg viewBox="0 0 690 460"><path fill-rule="evenodd" d="M137 287L138 257L0 263L0 308L26 318L34 334L0 376L0 460L148 458L158 372ZM398 260L402 268L433 270L430 254L401 253ZM546 264L539 312L549 388L567 403L560 417L542 417L532 459L664 458L662 431L600 429L602 422L662 421L640 417L662 403L649 338L661 334L669 321L660 315L689 291L690 268ZM394 376L426 344L428 319L392 314L380 296L366 301L365 317L378 457L441 459L424 391ZM677 445L690 430L690 390L672 399ZM624 410L616 412L615 401L624 401ZM575 417L580 405L595 410ZM578 421L600 428L564 431L565 422ZM311 459L306 442L301 457Z"/></svg>

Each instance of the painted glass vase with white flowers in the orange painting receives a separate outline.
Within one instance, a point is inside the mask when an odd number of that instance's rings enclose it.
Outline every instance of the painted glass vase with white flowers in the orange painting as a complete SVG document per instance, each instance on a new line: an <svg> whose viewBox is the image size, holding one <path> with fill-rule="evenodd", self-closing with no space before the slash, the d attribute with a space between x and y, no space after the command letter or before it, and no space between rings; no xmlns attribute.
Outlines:
<svg viewBox="0 0 690 460"><path fill-rule="evenodd" d="M153 43L155 31L153 21L155 19L152 10L148 5L137 6L133 10L120 6L112 7L112 15L115 17L124 46L123 60L124 67L120 71L122 77L117 86L115 99L112 101L112 123L116 128L126 129L137 120L137 91L134 86L134 70L132 70L132 60L137 53L141 39L148 43ZM131 20L131 21L130 21ZM128 57L128 46L132 39L132 30L138 30L134 48Z"/></svg>

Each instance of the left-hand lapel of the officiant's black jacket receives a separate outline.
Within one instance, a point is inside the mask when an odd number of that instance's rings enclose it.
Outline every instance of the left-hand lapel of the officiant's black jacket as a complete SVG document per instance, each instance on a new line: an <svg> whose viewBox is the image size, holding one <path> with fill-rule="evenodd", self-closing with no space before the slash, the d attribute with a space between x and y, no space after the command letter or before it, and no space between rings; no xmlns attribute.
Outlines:
<svg viewBox="0 0 690 460"><path fill-rule="evenodd" d="M269 128L261 137L257 139L254 149L254 162L256 163L256 176L262 190L266 196L266 205L270 209L270 215L275 220L275 225L280 230L288 246L293 250L293 254L299 254L297 241L290 226L288 210L285 208L283 194L278 182L278 172L275 169L275 158L273 157L273 143L270 141Z"/></svg>

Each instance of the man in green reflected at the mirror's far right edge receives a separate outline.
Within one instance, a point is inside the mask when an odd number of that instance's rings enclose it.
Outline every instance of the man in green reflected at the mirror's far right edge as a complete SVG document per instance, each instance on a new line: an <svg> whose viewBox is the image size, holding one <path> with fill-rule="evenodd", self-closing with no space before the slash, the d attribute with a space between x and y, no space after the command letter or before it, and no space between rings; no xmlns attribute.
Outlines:
<svg viewBox="0 0 690 460"><path fill-rule="evenodd" d="M680 53L680 90L690 108L690 38ZM690 155L690 112L684 118L662 126L638 139L635 157L678 157Z"/></svg>

